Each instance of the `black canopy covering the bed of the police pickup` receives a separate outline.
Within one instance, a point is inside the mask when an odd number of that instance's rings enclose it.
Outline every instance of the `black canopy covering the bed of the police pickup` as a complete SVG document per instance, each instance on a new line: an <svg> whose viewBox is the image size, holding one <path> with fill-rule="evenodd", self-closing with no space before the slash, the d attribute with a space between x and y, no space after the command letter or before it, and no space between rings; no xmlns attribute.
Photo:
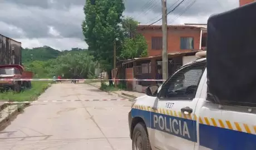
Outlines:
<svg viewBox="0 0 256 150"><path fill-rule="evenodd" d="M256 2L208 19L208 100L256 106Z"/></svg>

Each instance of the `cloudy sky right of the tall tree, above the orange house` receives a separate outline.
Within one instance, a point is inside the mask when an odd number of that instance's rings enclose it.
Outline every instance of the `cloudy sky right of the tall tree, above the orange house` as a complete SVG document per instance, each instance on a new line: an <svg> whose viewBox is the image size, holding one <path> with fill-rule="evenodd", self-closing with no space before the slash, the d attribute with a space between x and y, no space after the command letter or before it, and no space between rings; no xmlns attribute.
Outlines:
<svg viewBox="0 0 256 150"><path fill-rule="evenodd" d="M174 12L171 12L170 15L178 16L180 13L183 13L185 9L193 3L195 0L185 0L180 4L179 7L175 9ZM126 12L127 13L136 13L134 15L135 19L140 20L145 16L150 16L147 18L154 18L161 15L161 1L154 0L130 0L126 1ZM173 10L181 0L168 0L167 8L168 12ZM239 1L235 0L196 0L196 2L188 10L186 10L183 16L186 17L195 17L197 15L211 15L214 13L220 13L233 9L239 6ZM152 17L154 15L154 17ZM161 17L161 16L160 16ZM156 19L157 20L157 19Z"/></svg>

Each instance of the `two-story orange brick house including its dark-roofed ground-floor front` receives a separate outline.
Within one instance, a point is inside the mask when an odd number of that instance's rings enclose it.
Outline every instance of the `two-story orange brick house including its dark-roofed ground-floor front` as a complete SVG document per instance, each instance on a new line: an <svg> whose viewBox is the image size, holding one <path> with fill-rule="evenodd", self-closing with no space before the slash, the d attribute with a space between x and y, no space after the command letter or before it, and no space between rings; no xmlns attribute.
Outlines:
<svg viewBox="0 0 256 150"><path fill-rule="evenodd" d="M206 48L206 24L168 25L168 74L173 74L180 66L195 60L195 53ZM147 42L147 58L127 60L126 77L129 79L156 79L162 65L163 32L161 25L139 25L136 33L144 35ZM160 73L161 74L161 73ZM128 79L128 78L127 78ZM127 87L144 91L155 81L127 81Z"/></svg>

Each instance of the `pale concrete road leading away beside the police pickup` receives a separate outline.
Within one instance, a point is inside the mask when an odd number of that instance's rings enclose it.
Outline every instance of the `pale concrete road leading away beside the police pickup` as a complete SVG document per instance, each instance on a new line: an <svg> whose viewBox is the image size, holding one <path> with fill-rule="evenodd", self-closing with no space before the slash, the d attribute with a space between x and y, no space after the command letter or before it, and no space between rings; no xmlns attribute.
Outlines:
<svg viewBox="0 0 256 150"><path fill-rule="evenodd" d="M45 100L116 99L86 84L52 85ZM129 101L36 103L0 132L0 149L130 150Z"/></svg>

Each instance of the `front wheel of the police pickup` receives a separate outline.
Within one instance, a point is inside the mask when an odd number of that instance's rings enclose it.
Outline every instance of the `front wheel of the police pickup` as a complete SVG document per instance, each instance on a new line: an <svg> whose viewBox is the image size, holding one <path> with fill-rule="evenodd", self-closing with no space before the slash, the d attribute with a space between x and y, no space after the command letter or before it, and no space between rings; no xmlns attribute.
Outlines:
<svg viewBox="0 0 256 150"><path fill-rule="evenodd" d="M144 123L137 123L132 132L132 150L151 150Z"/></svg>

